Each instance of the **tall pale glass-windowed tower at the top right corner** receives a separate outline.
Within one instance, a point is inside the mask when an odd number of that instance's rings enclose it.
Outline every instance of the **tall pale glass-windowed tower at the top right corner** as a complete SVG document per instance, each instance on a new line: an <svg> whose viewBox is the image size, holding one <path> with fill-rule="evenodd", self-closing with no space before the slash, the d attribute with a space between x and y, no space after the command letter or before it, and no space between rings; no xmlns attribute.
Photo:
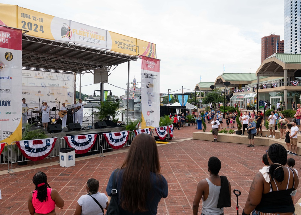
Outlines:
<svg viewBox="0 0 301 215"><path fill-rule="evenodd" d="M301 54L300 0L284 0L284 53Z"/></svg>

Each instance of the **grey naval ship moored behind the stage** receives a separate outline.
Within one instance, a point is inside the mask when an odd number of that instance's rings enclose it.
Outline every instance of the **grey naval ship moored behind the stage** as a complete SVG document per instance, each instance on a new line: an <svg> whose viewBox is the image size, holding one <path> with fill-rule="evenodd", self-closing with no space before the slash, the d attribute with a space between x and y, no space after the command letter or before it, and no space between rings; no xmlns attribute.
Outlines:
<svg viewBox="0 0 301 215"><path fill-rule="evenodd" d="M132 87L129 88L129 111L141 112L141 87L136 87L136 85L140 85L141 83L136 83L136 76L134 76ZM122 99L122 104L124 109L127 107L127 90L125 91L124 97Z"/></svg>

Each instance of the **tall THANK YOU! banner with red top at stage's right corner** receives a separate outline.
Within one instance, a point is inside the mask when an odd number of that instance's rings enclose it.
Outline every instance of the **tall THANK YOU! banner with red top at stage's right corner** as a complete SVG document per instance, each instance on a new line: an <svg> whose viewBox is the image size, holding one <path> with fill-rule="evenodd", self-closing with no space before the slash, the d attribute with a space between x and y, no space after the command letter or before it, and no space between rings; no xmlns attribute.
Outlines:
<svg viewBox="0 0 301 215"><path fill-rule="evenodd" d="M154 128L160 121L160 60L142 56L141 128Z"/></svg>

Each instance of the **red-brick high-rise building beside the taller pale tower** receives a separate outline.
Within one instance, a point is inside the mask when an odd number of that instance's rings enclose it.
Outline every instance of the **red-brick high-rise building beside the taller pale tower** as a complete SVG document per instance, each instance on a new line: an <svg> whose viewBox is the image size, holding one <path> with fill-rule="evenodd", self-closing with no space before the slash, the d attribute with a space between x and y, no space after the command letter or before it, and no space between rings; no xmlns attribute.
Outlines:
<svg viewBox="0 0 301 215"><path fill-rule="evenodd" d="M277 45L278 43L278 45ZM276 51L277 49L277 51ZM261 38L261 63L274 53L284 53L284 41L280 36L270 34Z"/></svg>

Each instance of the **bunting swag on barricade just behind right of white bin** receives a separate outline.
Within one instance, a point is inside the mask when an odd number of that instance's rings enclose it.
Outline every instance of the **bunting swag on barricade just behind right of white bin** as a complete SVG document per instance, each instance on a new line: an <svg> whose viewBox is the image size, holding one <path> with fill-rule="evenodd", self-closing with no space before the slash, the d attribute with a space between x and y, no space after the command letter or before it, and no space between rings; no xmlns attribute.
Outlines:
<svg viewBox="0 0 301 215"><path fill-rule="evenodd" d="M88 152L95 144L97 134L87 134L79 136L64 137L70 148L75 148L76 154L84 154Z"/></svg>

